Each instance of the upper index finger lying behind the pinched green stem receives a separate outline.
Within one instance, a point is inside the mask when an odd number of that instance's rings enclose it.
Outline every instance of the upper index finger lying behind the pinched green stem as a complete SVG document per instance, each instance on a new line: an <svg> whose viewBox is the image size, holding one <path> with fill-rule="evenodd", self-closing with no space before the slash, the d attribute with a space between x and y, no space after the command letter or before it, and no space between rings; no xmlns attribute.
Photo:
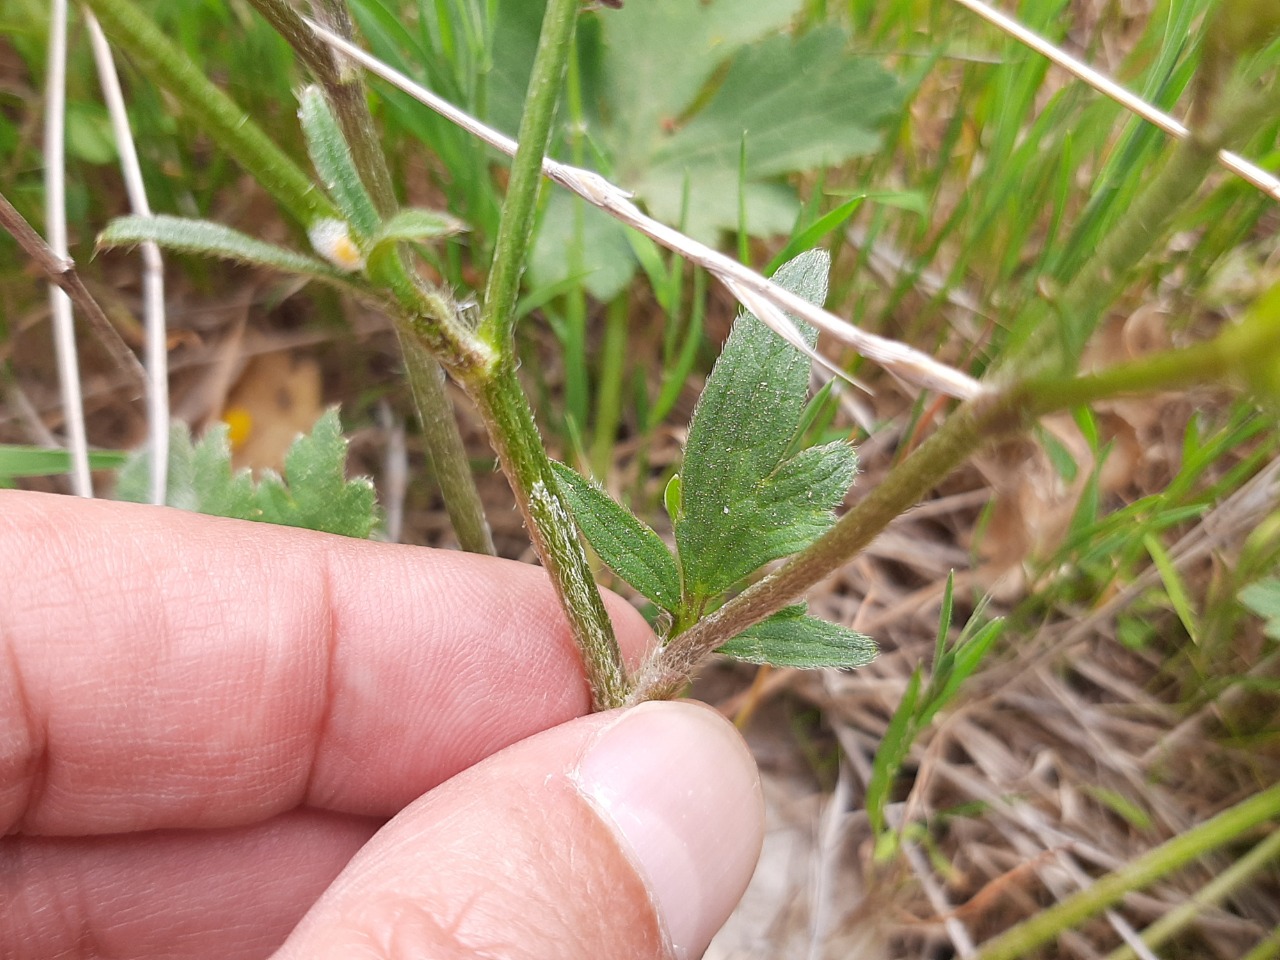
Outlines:
<svg viewBox="0 0 1280 960"><path fill-rule="evenodd" d="M527 564L0 493L0 833L385 817L588 708Z"/></svg>

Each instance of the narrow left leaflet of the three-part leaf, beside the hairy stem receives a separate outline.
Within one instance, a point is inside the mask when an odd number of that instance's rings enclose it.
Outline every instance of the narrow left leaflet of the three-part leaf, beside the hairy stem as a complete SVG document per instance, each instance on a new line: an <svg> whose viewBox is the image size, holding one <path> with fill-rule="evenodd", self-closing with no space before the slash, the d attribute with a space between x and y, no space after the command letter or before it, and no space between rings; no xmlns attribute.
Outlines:
<svg viewBox="0 0 1280 960"><path fill-rule="evenodd" d="M552 461L582 535L609 570L666 611L680 605L680 570L667 544L628 509L575 470Z"/></svg>

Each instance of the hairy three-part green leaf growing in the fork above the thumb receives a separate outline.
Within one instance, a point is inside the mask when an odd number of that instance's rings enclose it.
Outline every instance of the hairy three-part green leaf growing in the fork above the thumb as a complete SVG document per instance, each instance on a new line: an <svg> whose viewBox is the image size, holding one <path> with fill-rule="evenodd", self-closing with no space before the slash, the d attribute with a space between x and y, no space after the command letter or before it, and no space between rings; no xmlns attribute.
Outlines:
<svg viewBox="0 0 1280 960"><path fill-rule="evenodd" d="M829 261L809 251L776 280L820 305ZM810 349L817 332L799 324ZM554 465L584 536L620 577L690 626L765 563L801 550L835 522L854 480L856 456L844 440L800 448L809 357L744 312L694 411L682 472L664 493L676 554L649 526L598 485ZM668 637L669 639L669 637ZM792 605L749 627L719 650L778 667L860 667L876 655L865 636Z"/></svg>

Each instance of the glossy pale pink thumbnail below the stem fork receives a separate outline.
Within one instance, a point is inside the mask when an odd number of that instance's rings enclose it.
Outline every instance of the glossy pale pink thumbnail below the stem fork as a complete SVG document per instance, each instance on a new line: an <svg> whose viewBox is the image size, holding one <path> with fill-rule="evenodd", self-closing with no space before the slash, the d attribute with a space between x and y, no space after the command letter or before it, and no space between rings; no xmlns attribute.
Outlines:
<svg viewBox="0 0 1280 960"><path fill-rule="evenodd" d="M646 882L675 956L701 956L760 855L760 781L737 731L708 707L641 704L588 748L575 781Z"/></svg>

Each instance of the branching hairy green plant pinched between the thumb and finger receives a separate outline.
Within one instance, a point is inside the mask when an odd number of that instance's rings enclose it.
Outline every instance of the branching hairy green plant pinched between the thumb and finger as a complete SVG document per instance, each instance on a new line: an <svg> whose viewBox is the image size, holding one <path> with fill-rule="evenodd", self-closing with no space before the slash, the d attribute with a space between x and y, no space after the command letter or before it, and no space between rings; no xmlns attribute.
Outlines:
<svg viewBox="0 0 1280 960"><path fill-rule="evenodd" d="M218 224L170 216L116 220L102 232L100 244L155 242L268 266L332 284L387 312L404 346L424 425L439 428L435 434L429 431L428 443L436 472L444 477L460 540L467 549L492 549L483 517L476 518L475 490L439 388L436 364L466 390L485 421L582 650L599 709L677 694L716 650L794 667L865 663L874 649L867 637L808 617L796 600L975 449L1025 429L1044 413L1119 393L1240 372L1270 389L1268 357L1280 339L1270 323L1275 296L1261 301L1243 326L1199 347L1091 376L1076 376L1071 370L1096 324L1092 317L1115 296L1115 278L1137 262L1170 221L1162 201L1171 191L1188 192L1206 175L1221 145L1275 105L1275 84L1248 95L1233 93L1229 109L1185 147L1187 161L1171 164L1152 183L1153 200L1147 207L1135 205L1142 207L1135 215L1140 227L1128 220L1119 224L1115 239L1100 251L1091 269L1062 292L1068 335L1061 338L1053 362L1036 365L1053 372L1020 376L1018 364L1010 362L998 388L982 387L959 371L929 366L933 361L900 344L884 348L874 338L850 333L849 342L865 347L867 356L896 365L891 369L918 383L942 385L965 402L838 521L833 509L856 467L851 447L837 442L791 452L799 439L817 337L799 317L803 314L824 324L823 329L838 329L820 308L828 269L824 255L801 253L786 264L776 278L780 293L705 247L681 246L705 256L708 269L753 312L744 312L735 324L695 411L684 465L667 490L672 552L588 479L549 460L516 378L516 298L580 0L547 4L477 324L462 316L448 292L425 283L410 260L411 244L447 237L463 225L443 214L397 206L358 74L330 50L311 22L283 0L253 0L316 79L300 95L300 119L315 177L297 166L225 93L184 64L131 0L87 0L87 5L136 65L169 90L298 221L314 251L287 250ZM312 13L326 31L323 36L338 41L352 36L340 0L317 0ZM676 246L671 238L675 232L646 227L652 221L618 200L595 174L556 169L559 182L607 212ZM1161 216L1153 219L1148 207L1156 206ZM777 306L774 294L782 297L786 311ZM1037 355L1046 352L1041 338L1028 338L1028 343ZM1028 351L1030 347L1024 353ZM186 449L182 443L177 447ZM334 451L332 444L326 449ZM454 507L466 502L472 507L454 515ZM467 515L470 521L463 518ZM622 667L579 526L600 558L663 612L664 646L636 676L627 676ZM777 570L749 582L776 561L782 561Z"/></svg>

